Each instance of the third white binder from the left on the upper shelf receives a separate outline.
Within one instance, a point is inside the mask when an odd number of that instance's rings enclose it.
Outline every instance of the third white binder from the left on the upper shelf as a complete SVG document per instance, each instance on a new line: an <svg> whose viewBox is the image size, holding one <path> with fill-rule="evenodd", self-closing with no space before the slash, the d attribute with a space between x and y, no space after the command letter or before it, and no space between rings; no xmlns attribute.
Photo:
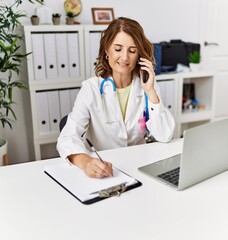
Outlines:
<svg viewBox="0 0 228 240"><path fill-rule="evenodd" d="M56 55L58 65L58 75L60 78L69 77L67 34L56 33Z"/></svg>

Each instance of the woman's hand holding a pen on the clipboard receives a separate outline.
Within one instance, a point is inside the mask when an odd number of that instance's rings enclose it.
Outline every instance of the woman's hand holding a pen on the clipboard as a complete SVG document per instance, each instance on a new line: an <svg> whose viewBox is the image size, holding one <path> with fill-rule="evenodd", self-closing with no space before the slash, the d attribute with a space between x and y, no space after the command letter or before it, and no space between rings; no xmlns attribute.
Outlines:
<svg viewBox="0 0 228 240"><path fill-rule="evenodd" d="M72 154L68 156L71 163L81 168L85 174L92 178L104 178L113 176L112 164L102 162L98 158L92 158L87 154Z"/></svg>

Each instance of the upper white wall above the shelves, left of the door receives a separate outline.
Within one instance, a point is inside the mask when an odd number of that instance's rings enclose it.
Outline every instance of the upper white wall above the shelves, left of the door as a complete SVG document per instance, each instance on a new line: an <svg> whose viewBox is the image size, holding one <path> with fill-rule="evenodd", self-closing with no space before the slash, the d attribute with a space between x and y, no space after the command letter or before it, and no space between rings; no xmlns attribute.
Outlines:
<svg viewBox="0 0 228 240"><path fill-rule="evenodd" d="M61 20L65 23L64 0L44 2L53 12L62 13ZM31 16L37 6L24 0L21 8ZM198 41L199 6L199 0L82 0L82 12L77 21L91 24L92 7L112 7L115 17L125 16L139 21L153 42L170 39ZM29 19L25 22L30 23Z"/></svg>

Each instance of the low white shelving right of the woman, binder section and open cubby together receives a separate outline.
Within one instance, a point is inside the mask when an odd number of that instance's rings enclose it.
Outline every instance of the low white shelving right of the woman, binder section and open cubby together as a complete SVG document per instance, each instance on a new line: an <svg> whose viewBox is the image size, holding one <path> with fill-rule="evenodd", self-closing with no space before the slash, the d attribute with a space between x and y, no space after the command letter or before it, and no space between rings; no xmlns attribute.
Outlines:
<svg viewBox="0 0 228 240"><path fill-rule="evenodd" d="M164 105L172 112L176 127L174 138L183 136L187 128L210 122L214 118L214 80L213 72L199 71L187 73L169 73L156 76L160 86ZM162 90L163 84L169 83L166 94ZM170 84L171 83L171 84ZM195 86L195 99L202 109L183 109L183 86L192 83ZM167 95L169 96L167 98ZM169 106L172 106L171 108ZM203 107L204 106L204 107Z"/></svg>

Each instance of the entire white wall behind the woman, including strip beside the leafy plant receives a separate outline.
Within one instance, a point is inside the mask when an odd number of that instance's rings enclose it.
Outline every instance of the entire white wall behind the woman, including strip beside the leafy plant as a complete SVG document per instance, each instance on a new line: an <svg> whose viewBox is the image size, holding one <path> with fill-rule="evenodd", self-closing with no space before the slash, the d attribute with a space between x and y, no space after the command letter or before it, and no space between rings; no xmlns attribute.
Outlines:
<svg viewBox="0 0 228 240"><path fill-rule="evenodd" d="M1 2L14 2L3 0ZM62 13L64 19L64 0L46 0L45 5L52 8L53 12ZM18 10L24 10L28 17L35 13L38 4L31 4L27 0ZM115 17L125 16L139 21L145 33L152 42L182 39L185 41L199 42L200 1L199 0L82 0L82 13L76 18L81 24L92 24L92 7L112 7ZM30 24L29 18L24 19L24 24ZM26 75L25 75L26 76ZM29 95L25 91L15 91L15 111L17 122L13 130L2 129L0 136L9 141L9 156L12 163L26 162L34 159L32 144L31 109ZM47 150L48 151L48 150Z"/></svg>

